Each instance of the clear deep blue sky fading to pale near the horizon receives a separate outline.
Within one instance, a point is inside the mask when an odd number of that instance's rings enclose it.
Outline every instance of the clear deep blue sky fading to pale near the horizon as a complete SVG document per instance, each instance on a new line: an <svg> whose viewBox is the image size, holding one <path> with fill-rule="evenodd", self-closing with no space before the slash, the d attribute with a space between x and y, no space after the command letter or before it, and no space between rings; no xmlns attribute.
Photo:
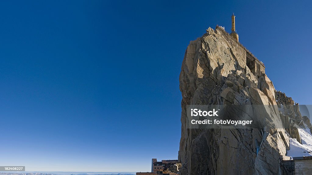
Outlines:
<svg viewBox="0 0 312 175"><path fill-rule="evenodd" d="M311 2L2 1L0 165L150 171L176 159L190 40L229 32L275 88L311 104Z"/></svg>

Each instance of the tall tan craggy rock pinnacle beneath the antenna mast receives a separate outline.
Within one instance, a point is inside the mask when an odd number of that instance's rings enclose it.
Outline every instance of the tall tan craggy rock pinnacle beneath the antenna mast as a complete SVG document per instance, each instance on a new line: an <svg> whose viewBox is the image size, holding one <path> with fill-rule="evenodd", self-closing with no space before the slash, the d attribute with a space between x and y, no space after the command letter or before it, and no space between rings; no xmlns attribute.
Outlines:
<svg viewBox="0 0 312 175"><path fill-rule="evenodd" d="M282 172L280 157L286 155L289 139L276 101L294 104L287 97L275 98L279 93L264 69L262 62L218 26L216 30L209 28L202 37L190 42L180 73L183 97L181 175L275 175ZM266 105L261 110L265 119L253 119L265 127L187 129L187 105L211 104ZM258 155L255 139L261 142Z"/></svg>

